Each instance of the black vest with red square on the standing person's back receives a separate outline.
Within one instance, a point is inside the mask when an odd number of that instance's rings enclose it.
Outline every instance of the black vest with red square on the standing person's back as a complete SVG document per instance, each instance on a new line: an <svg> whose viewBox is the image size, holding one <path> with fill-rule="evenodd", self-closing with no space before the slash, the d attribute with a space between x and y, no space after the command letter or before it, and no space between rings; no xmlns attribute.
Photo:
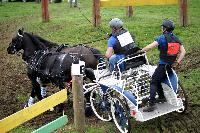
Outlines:
<svg viewBox="0 0 200 133"><path fill-rule="evenodd" d="M158 47L160 50L160 59L168 64L172 64L179 53L181 42L174 35L164 34L164 36L167 44Z"/></svg>

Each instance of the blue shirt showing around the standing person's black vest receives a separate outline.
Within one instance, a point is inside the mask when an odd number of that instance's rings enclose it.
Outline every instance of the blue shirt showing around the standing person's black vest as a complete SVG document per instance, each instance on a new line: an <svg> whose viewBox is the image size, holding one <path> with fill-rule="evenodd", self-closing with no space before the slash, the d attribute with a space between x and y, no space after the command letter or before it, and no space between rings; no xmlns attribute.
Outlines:
<svg viewBox="0 0 200 133"><path fill-rule="evenodd" d="M169 34L169 35L171 35L171 36L173 35L172 32L168 32L167 34ZM158 37L155 39L155 41L158 42L158 45L159 45L160 47L167 45L167 40L165 39L165 36L164 36L163 34L160 35L160 36L158 36ZM163 61L162 59L159 59L159 64L168 64L168 63L166 63L166 62Z"/></svg>

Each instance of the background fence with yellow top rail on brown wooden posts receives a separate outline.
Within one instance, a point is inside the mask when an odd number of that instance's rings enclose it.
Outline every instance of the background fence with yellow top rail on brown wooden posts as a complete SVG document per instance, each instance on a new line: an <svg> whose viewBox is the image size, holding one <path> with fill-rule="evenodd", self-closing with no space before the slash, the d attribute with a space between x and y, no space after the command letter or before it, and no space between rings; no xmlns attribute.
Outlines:
<svg viewBox="0 0 200 133"><path fill-rule="evenodd" d="M179 4L180 3L180 4ZM93 0L93 25L100 26L100 7L128 7L127 16L133 15L131 6L144 5L180 5L180 22L182 26L187 25L187 0Z"/></svg>

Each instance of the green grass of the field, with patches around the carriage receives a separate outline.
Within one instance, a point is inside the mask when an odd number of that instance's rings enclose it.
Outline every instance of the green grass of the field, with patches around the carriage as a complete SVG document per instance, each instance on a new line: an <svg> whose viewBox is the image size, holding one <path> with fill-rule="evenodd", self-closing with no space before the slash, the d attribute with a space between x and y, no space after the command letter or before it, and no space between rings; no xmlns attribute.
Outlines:
<svg viewBox="0 0 200 133"><path fill-rule="evenodd" d="M34 2L22 3L2 3L0 4L0 35L7 35L7 40L0 40L0 49L3 51L11 41L17 30L24 27L27 32L33 32L57 43L79 44L91 42L99 38L103 38L105 34L110 32L108 22L113 17L121 18L124 21L125 28L136 36L138 46L144 47L151 43L156 36L161 34L160 25L163 19L170 18L175 22L176 28L174 33L180 37L184 43L186 51L192 52L200 46L200 1L188 0L188 23L187 27L181 27L179 23L179 7L178 5L168 6L141 6L134 7L134 17L127 18L125 16L125 8L101 8L101 26L95 28L87 19L92 22L92 0L79 1L78 8L69 8L66 0L62 3L49 4L50 22L42 23L41 5ZM87 19L86 19L86 18ZM102 40L90 44L93 47L105 52L107 42ZM148 53L150 62L154 64L158 60L157 50ZM187 77L187 78L186 78ZM192 69L187 72L180 73L180 79L183 86L187 89L190 100L194 103L199 102L200 88L200 69ZM19 95L19 100L24 100L24 96ZM133 122L135 123L135 122ZM137 124L139 125L139 124ZM134 128L135 132L147 131L149 126L140 124ZM64 132L71 131L74 133L73 126L66 126ZM94 129L95 128L95 129ZM97 128L97 129L96 129ZM87 132L114 132L113 125L108 124L101 127L87 127ZM19 127L13 132L30 132L29 128Z"/></svg>

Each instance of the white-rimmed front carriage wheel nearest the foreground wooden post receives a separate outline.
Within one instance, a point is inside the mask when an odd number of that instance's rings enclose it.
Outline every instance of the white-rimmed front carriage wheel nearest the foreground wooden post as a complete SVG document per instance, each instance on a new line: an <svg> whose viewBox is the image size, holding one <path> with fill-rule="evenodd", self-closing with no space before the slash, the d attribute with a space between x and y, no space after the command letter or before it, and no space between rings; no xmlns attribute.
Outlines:
<svg viewBox="0 0 200 133"><path fill-rule="evenodd" d="M112 119L109 94L103 93L100 87L91 91L90 103L93 112L100 120L110 121Z"/></svg>

